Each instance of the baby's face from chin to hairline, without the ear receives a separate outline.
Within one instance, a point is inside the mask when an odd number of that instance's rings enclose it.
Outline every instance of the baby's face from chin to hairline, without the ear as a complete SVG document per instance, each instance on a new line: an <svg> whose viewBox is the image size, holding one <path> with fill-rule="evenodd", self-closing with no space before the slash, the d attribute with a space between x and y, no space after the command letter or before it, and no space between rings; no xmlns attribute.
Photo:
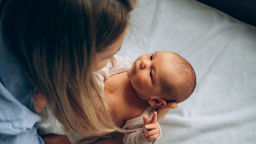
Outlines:
<svg viewBox="0 0 256 144"><path fill-rule="evenodd" d="M159 98L163 81L177 81L173 55L167 51L142 55L128 70L128 78L142 100Z"/></svg>

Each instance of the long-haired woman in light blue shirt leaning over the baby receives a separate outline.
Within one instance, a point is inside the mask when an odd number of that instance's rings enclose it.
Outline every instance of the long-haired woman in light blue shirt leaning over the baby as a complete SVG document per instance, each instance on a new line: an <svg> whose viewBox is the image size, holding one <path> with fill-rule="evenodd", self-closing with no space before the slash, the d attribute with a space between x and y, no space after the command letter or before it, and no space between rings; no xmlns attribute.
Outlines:
<svg viewBox="0 0 256 144"><path fill-rule="evenodd" d="M44 143L32 113L35 90L68 129L88 137L122 131L93 71L121 48L135 1L0 1L1 144Z"/></svg>

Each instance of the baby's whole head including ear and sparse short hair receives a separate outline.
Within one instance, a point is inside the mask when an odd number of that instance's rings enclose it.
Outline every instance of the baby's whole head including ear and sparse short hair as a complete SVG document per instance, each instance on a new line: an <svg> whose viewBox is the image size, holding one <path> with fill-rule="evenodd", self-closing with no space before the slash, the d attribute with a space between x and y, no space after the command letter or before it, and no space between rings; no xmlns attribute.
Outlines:
<svg viewBox="0 0 256 144"><path fill-rule="evenodd" d="M128 78L140 99L157 106L166 106L166 102L180 103L196 87L192 66L169 51L139 56L128 70Z"/></svg>

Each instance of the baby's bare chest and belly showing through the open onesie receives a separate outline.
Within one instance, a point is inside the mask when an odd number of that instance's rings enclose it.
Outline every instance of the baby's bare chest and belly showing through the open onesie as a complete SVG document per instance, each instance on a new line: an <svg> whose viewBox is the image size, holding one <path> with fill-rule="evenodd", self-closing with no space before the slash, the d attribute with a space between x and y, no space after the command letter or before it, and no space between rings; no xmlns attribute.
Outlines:
<svg viewBox="0 0 256 144"><path fill-rule="evenodd" d="M126 120L139 117L149 106L137 100L127 77L127 72L110 76L104 81L104 94L109 102L113 117L122 127ZM142 120L142 119L141 119Z"/></svg>

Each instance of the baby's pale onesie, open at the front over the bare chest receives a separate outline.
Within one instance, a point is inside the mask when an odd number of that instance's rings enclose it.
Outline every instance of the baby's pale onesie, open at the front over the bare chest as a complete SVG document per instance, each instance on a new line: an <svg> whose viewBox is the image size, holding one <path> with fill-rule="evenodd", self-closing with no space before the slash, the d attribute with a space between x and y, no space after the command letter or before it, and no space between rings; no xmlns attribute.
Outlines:
<svg viewBox="0 0 256 144"><path fill-rule="evenodd" d="M128 71L132 66L132 62L127 56L113 56L109 60L109 63L97 71L97 75L99 77L99 84L101 85L102 90L104 90L104 80L107 79L111 75L115 75L121 72ZM136 117L134 119L129 119L126 121L125 125L122 129L126 130L125 136L123 138L124 144L154 144L155 140L146 140L142 137L142 134L147 132L147 130L143 126L143 115L147 115L148 118L152 118L153 113L155 111L155 106L148 106L141 116ZM77 144L79 141L83 140L83 144L90 144L95 142L99 138L107 138L110 135L103 137L93 137L93 138L85 138L82 134L74 133L72 131L68 131L61 125L57 119L55 119L49 109L44 109L42 113L42 125L38 128L40 134L49 134L55 133L59 135L66 135L71 144ZM159 124L158 124L159 125ZM160 128L160 125L159 125ZM161 129L160 129L160 137L161 137ZM159 137L159 138L160 138ZM158 138L158 139L159 139Z"/></svg>

